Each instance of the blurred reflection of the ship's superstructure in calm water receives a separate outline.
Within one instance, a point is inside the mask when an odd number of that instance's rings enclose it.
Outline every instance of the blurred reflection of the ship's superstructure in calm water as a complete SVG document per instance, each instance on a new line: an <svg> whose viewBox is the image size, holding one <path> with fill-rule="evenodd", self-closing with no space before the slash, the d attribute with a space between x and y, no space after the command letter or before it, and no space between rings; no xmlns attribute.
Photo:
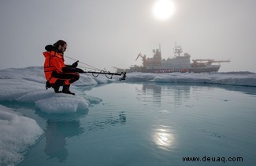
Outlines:
<svg viewBox="0 0 256 166"><path fill-rule="evenodd" d="M182 105L190 98L189 85L143 84L141 90L137 89L138 99L150 103L171 103L175 106ZM152 97L150 97L152 95Z"/></svg>

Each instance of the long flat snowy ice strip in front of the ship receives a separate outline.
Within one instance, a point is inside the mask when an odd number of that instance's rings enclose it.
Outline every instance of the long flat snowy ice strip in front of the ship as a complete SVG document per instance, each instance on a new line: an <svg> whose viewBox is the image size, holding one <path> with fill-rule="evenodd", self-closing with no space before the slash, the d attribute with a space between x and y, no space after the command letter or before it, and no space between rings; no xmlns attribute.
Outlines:
<svg viewBox="0 0 256 166"><path fill-rule="evenodd" d="M250 72L230 73L170 73L170 74L128 74L127 81L154 81L154 82L180 82L180 83L206 83L219 85L256 86L256 74Z"/></svg>

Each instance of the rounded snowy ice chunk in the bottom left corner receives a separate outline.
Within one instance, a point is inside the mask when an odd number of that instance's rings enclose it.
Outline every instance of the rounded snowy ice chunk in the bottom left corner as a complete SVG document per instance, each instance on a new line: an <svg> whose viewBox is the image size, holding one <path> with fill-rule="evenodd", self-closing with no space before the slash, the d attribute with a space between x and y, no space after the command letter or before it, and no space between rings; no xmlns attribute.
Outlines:
<svg viewBox="0 0 256 166"><path fill-rule="evenodd" d="M43 129L31 118L0 105L0 165L15 165L24 159L29 146L43 135Z"/></svg>

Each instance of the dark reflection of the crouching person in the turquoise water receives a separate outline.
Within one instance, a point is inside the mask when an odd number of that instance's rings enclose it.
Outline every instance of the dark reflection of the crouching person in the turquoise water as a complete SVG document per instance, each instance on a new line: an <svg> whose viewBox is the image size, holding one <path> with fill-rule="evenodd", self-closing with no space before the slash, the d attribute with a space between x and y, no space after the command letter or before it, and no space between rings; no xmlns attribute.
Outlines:
<svg viewBox="0 0 256 166"><path fill-rule="evenodd" d="M69 152L66 149L66 138L83 133L80 121L54 121L48 120L45 136L46 146L44 152L50 158L57 157L59 162L67 159Z"/></svg>

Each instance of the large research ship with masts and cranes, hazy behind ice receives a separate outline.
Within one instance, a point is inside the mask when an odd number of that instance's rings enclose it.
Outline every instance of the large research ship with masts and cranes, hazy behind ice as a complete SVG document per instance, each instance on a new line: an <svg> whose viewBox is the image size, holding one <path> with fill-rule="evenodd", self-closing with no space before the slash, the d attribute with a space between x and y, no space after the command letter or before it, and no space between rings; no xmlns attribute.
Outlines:
<svg viewBox="0 0 256 166"><path fill-rule="evenodd" d="M175 45L174 47L174 57L168 59L161 58L161 45L159 49L153 49L154 56L152 58L147 58L146 55L142 55L140 52L135 60L139 58L142 59L143 65L133 65L129 69L117 68L117 72L143 72L143 73L213 73L217 72L223 62L230 62L230 60L192 60L191 55L187 52L182 55L183 52L181 46ZM213 64L217 63L217 64Z"/></svg>

